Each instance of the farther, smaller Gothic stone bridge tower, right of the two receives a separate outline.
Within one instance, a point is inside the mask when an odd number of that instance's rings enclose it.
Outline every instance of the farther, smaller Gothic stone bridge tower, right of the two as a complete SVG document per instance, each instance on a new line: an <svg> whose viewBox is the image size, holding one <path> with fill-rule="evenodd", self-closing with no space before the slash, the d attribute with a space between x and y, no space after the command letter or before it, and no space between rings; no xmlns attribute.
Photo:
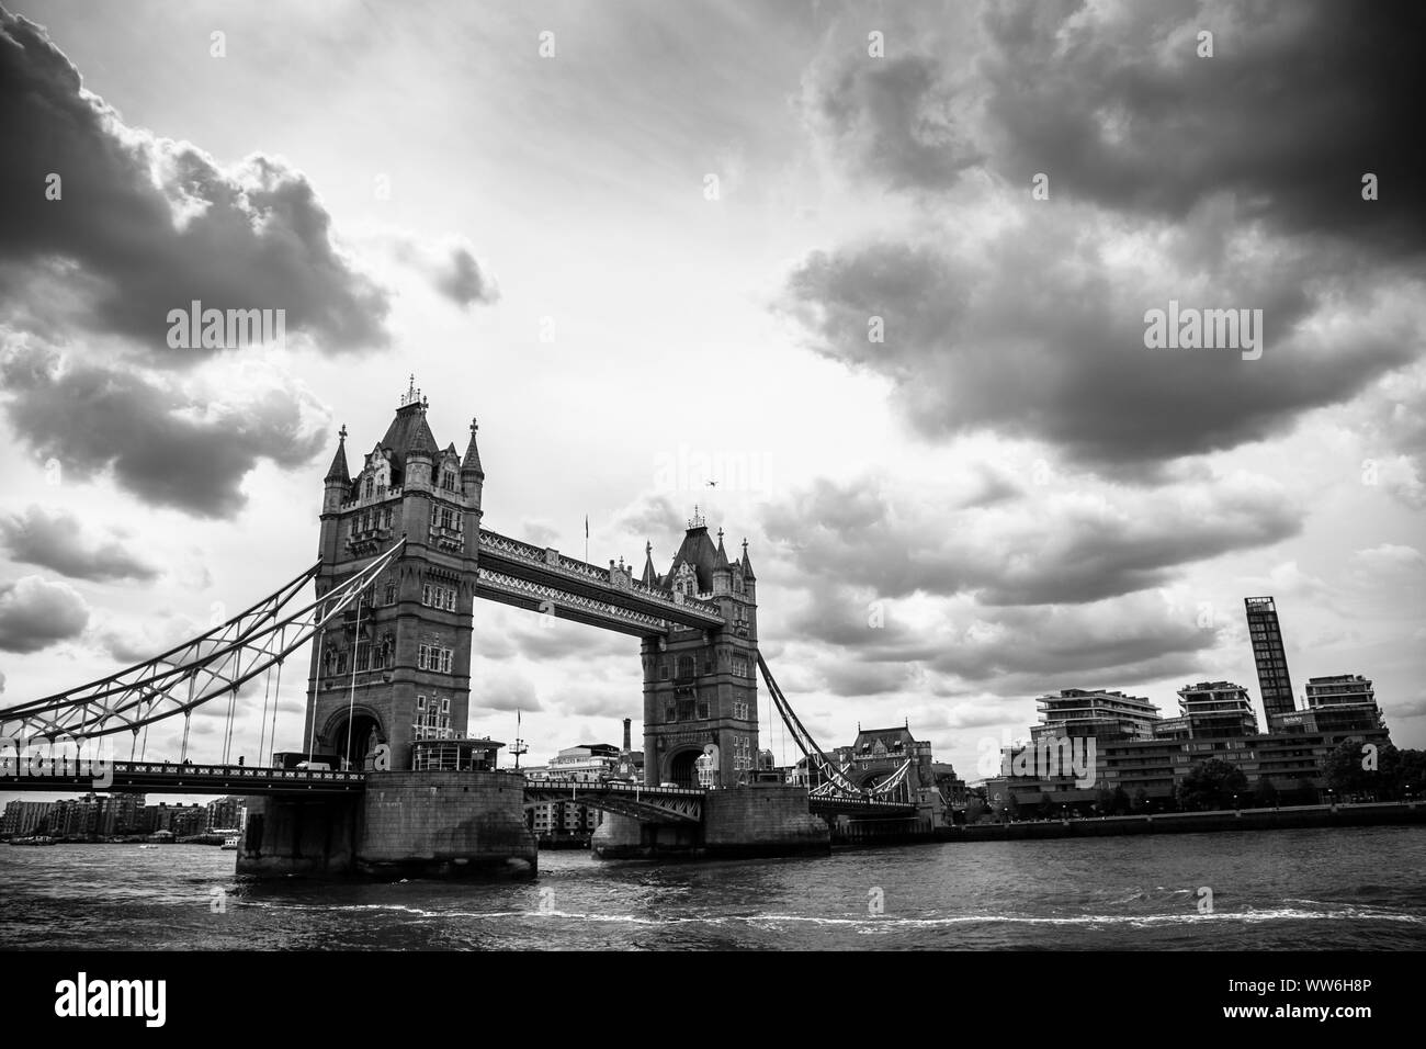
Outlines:
<svg viewBox="0 0 1426 1049"><path fill-rule="evenodd" d="M680 786L736 786L757 762L757 578L743 541L742 559L730 561L697 514L667 574L653 569L646 548L642 581L647 587L713 601L723 612L720 629L672 627L669 635L643 639L645 781ZM709 745L716 762L700 768ZM702 774L702 775L700 775Z"/></svg>

